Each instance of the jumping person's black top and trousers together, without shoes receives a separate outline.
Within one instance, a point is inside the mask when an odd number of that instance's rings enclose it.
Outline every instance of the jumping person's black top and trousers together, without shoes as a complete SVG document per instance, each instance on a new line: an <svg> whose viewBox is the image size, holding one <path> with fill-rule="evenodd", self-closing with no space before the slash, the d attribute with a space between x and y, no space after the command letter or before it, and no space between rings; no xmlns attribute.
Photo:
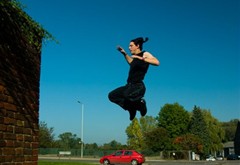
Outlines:
<svg viewBox="0 0 240 165"><path fill-rule="evenodd" d="M143 53L141 52L137 55L142 57ZM133 111L140 109L141 99L146 92L143 80L148 67L149 63L134 58L130 63L127 84L111 91L108 95L109 100L125 110Z"/></svg>

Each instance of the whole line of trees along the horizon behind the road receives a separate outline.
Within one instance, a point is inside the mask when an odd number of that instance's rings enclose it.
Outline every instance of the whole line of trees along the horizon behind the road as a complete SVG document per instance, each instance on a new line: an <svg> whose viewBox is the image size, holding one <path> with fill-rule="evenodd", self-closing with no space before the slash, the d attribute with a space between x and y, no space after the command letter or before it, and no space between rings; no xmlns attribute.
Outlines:
<svg viewBox="0 0 240 165"><path fill-rule="evenodd" d="M209 155L223 150L223 143L235 138L239 119L220 122L210 110L194 106L188 112L178 103L165 104L158 116L135 118L126 128L127 144L115 140L98 146L84 144L85 150L135 149L151 155L161 151L193 151L199 155ZM39 147L80 149L81 138L65 132L55 139L54 128L40 121Z"/></svg>

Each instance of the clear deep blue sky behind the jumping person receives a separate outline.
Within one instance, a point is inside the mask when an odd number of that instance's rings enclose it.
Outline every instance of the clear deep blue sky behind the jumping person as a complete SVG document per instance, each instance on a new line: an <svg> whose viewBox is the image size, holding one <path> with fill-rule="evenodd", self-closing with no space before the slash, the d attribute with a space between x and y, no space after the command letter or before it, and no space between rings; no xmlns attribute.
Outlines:
<svg viewBox="0 0 240 165"><path fill-rule="evenodd" d="M238 0L20 0L60 43L42 49L40 120L84 142L124 144L128 112L108 100L125 85L129 66L116 46L149 37L144 50L160 61L145 77L148 114L166 103L240 118ZM129 51L128 51L129 52ZM137 114L137 118L140 114Z"/></svg>

